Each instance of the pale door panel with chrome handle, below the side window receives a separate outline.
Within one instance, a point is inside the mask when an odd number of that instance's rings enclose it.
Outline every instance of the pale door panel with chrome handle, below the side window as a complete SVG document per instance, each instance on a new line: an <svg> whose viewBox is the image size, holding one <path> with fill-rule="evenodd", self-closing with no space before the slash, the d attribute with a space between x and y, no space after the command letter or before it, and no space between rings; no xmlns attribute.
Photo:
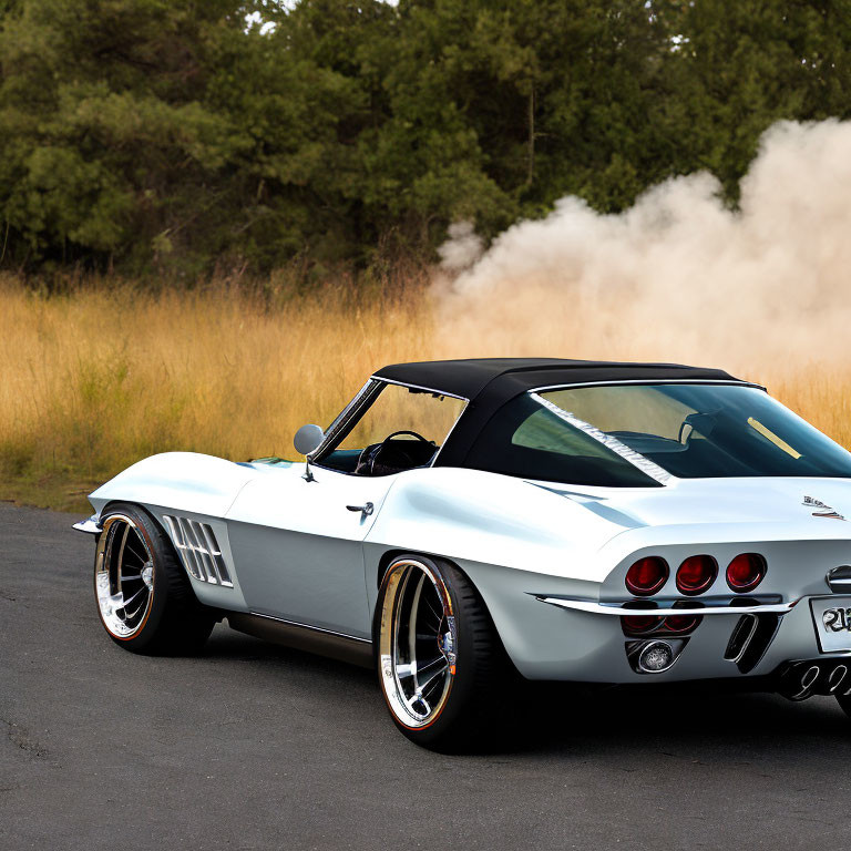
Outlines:
<svg viewBox="0 0 851 851"><path fill-rule="evenodd" d="M245 601L257 614L369 638L362 542L396 476L314 468L306 481L304 470L268 471L226 515Z"/></svg>

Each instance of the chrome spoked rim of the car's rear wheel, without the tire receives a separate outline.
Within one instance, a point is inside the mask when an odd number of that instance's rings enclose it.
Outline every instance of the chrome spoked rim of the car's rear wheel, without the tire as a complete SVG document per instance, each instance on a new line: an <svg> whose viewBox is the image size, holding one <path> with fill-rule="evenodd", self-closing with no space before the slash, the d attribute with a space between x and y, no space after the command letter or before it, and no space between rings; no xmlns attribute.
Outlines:
<svg viewBox="0 0 851 851"><path fill-rule="evenodd" d="M385 576L379 654L391 711L409 728L437 720L455 676L458 633L440 574L421 562L393 564Z"/></svg>

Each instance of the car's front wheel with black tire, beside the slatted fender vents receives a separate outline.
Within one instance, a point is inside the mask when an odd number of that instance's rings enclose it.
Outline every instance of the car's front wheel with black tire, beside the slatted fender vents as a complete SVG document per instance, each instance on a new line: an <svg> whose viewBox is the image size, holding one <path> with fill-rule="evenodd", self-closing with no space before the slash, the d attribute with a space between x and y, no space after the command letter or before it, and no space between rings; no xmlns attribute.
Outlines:
<svg viewBox="0 0 851 851"><path fill-rule="evenodd" d="M132 653L197 653L216 616L198 603L163 529L144 510L123 503L110 505L101 525L94 596L106 634Z"/></svg>

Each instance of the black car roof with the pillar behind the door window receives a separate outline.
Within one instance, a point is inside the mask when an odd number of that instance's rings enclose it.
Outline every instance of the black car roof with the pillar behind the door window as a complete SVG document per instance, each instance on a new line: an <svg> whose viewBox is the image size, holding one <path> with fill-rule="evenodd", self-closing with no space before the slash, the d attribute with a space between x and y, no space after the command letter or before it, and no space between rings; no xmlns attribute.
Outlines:
<svg viewBox="0 0 851 851"><path fill-rule="evenodd" d="M434 462L442 466L463 466L471 447L491 417L511 399L535 388L609 381L739 381L721 369L680 363L560 358L475 358L393 363L379 369L375 377L470 400Z"/></svg>

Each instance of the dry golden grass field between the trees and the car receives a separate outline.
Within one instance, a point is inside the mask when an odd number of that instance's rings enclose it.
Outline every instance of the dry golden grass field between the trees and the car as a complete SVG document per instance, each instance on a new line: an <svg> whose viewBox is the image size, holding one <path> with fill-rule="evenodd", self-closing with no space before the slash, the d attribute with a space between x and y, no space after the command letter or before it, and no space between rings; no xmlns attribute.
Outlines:
<svg viewBox="0 0 851 851"><path fill-rule="evenodd" d="M94 484L165 450L293 458L295 430L327 424L378 366L529 353L496 351L493 338L482 350L474 335L441 334L435 316L424 278L391 295L328 285L309 296L274 281L158 294L95 281L44 296L0 279L0 499L84 511ZM587 348L574 332L539 353ZM763 363L747 377L851 442L851 370Z"/></svg>

